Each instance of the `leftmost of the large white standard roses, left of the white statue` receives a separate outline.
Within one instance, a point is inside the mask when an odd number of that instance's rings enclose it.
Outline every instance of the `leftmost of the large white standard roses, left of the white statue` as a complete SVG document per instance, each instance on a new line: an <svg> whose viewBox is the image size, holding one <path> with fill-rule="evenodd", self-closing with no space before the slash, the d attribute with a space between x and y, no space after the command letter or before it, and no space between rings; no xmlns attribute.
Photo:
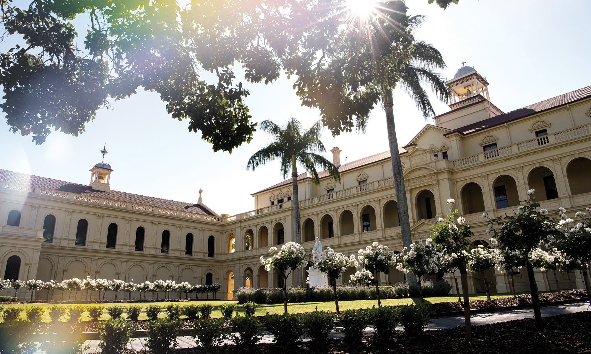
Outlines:
<svg viewBox="0 0 591 354"><path fill-rule="evenodd" d="M283 306L287 313L287 277L290 276L291 271L306 266L309 255L304 251L304 247L296 242L287 242L281 246L281 251L277 251L277 247L271 247L269 252L271 256L266 260L261 256L260 261L265 266L265 270L270 271L275 268L277 273L283 276Z"/></svg>

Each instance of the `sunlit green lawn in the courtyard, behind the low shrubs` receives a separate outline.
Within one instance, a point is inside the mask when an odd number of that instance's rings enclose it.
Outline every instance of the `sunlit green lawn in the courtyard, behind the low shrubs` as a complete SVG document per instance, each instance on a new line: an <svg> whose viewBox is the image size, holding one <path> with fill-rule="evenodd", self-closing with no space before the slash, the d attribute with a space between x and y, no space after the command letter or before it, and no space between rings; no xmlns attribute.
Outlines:
<svg viewBox="0 0 591 354"><path fill-rule="evenodd" d="M496 297L508 297L511 296L512 294L495 294L495 295L491 295L492 298L496 298ZM470 295L470 300L486 300L486 296L483 296L482 294L472 294ZM402 305L402 304L410 304L410 303L420 303L421 299L418 297L413 297L413 298L408 298L408 299L384 299L382 300L382 304L384 305ZM446 302L446 301L457 301L457 297L454 295L450 295L450 296L439 296L439 297L426 297L425 298L426 303L439 303L439 302ZM236 303L237 301L211 301L211 300L196 300L196 301L190 301L190 302L182 302L182 303L173 303L173 304L180 304L180 306L183 306L184 304L203 304L203 303L209 303L212 304L213 306L217 307L220 306L220 304L222 303ZM138 306L142 306L142 307L146 307L149 306L151 304L158 304L161 306L164 306L166 304L170 304L168 302L163 302L163 303L121 303L121 304L117 304L117 303L111 303L111 304L88 304L85 305L83 304L83 306L115 306L115 305L121 305L121 306L134 306L134 305L138 305ZM377 300L350 300L350 301L339 301L339 309L340 310L346 310L346 309L365 309L366 307L372 307L372 306L377 306L378 305L378 301ZM48 309L51 306L77 306L76 304L63 304L63 305L55 305L55 304L19 304L19 305L5 305L5 307L7 306L18 306L18 307L22 307L23 309L26 309L27 307L30 306L40 306L43 307L44 309ZM318 307L319 310L329 310L329 311L334 311L335 310L335 303L333 301L317 301L317 302L308 302L308 303L288 303L287 304L287 310L290 313L302 313L302 312L310 312L310 311L314 311L316 309L316 307ZM243 313L243 308L242 306L238 306L238 312L239 313ZM260 304L257 308L256 308L256 313L255 316L264 316L265 313L271 313L271 314L281 314L283 313L283 304ZM25 312L21 313L21 317L23 319L25 319ZM160 317L165 317L165 313L161 313ZM222 313L220 313L220 311L216 308L213 313L212 313L212 317L222 317ZM105 320L109 318L109 314L103 310L103 315L100 317L101 320ZM140 320L145 320L147 319L145 313L142 310L142 313L139 315L139 319ZM87 313L84 313L82 315L82 320L90 320L90 318L87 316ZM43 315L43 322L50 322L50 317L49 314L46 312Z"/></svg>

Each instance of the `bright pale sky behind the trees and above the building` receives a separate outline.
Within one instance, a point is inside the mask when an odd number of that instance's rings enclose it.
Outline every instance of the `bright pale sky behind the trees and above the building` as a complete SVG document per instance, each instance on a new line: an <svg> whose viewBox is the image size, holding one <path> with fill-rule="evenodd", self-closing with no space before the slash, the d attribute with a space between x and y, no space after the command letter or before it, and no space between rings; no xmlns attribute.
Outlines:
<svg viewBox="0 0 591 354"><path fill-rule="evenodd" d="M428 16L415 37L441 51L448 65L444 76L452 78L466 61L491 83L491 101L504 112L591 84L587 0L460 0L445 11L427 0L407 0L407 6L412 14ZM247 85L252 119L282 124L294 116L304 126L319 119L316 110L300 106L292 84L282 77L268 86ZM105 162L115 170L111 189L197 202L202 188L204 204L230 215L253 209L250 194L281 180L277 162L246 171L249 157L269 143L264 133L255 132L252 142L232 155L214 153L200 134L187 131L187 122L171 119L156 93L141 91L111 104L113 109L100 110L82 135L53 132L43 145L8 132L5 125L0 168L86 184L106 143ZM434 106L438 113L449 111L444 103L434 101ZM400 145L426 124L404 91L395 93L394 114ZM332 159L329 150L338 146L343 163L388 150L384 117L376 108L365 135L326 132L324 155Z"/></svg>

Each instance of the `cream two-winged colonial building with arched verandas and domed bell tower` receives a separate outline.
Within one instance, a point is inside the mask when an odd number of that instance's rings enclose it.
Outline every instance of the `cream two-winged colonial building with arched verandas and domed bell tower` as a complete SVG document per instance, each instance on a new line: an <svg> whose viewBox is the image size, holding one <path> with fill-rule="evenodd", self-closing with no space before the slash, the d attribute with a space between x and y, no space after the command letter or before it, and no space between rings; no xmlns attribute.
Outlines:
<svg viewBox="0 0 591 354"><path fill-rule="evenodd" d="M400 148L414 241L449 214L448 198L473 222L480 242L488 240L480 215L511 213L531 188L550 212L591 206L591 86L503 113L473 68L460 68L448 83L450 112ZM341 150L332 152L340 184L326 173L319 186L307 173L298 177L304 247L311 251L319 237L324 247L346 254L374 241L400 251L389 152L343 165ZM258 259L269 246L293 240L291 179L252 194L255 210L230 216L216 214L201 198L193 204L112 191L106 163L90 172L89 185L80 185L0 170L0 276L217 282L223 297L242 286L279 285ZM486 273L492 291L510 291L508 276ZM540 290L556 289L553 274L537 271L536 277ZM569 287L568 277L582 287L578 272L558 273L561 289ZM528 289L527 276L515 278L518 291ZM473 274L470 291L482 291L481 279ZM387 283L403 280L397 270L382 275ZM54 299L59 296L56 291Z"/></svg>

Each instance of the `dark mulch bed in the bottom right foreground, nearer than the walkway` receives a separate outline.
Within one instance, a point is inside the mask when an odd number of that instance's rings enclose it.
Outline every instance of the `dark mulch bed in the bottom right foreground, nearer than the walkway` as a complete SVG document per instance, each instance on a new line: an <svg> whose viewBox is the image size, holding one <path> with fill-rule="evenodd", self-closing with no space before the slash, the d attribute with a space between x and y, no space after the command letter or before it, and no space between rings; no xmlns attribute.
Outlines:
<svg viewBox="0 0 591 354"><path fill-rule="evenodd" d="M343 339L328 339L319 345L303 343L295 348L278 348L274 344L257 344L242 352L264 354L321 353L321 354L456 354L456 353L580 353L591 349L591 313L561 314L543 319L544 332L537 332L532 319L514 320L472 326L475 339L466 342L465 327L426 330L409 338L398 332L392 339L365 337L360 345L348 345ZM218 353L239 353L235 345L224 345ZM176 354L201 354L201 348L177 349Z"/></svg>

